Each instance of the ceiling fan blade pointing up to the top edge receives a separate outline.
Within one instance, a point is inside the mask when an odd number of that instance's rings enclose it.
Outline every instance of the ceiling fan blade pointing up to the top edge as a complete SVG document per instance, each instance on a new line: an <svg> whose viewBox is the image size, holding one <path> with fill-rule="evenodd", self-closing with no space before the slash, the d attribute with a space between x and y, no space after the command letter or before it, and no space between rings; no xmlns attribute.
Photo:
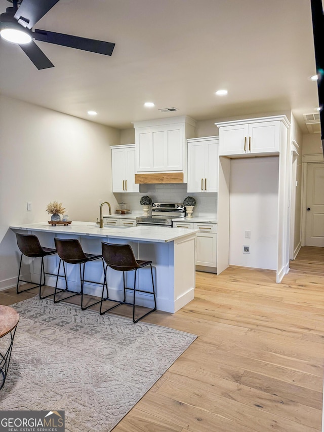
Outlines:
<svg viewBox="0 0 324 432"><path fill-rule="evenodd" d="M14 18L24 27L31 28L53 8L57 2L59 2L59 0L23 0Z"/></svg>

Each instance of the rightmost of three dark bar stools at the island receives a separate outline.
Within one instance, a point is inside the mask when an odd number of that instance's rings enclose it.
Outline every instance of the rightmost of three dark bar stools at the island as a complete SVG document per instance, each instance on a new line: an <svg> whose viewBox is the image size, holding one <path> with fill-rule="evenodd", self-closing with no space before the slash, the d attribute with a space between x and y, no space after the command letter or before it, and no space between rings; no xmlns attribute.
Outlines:
<svg viewBox="0 0 324 432"><path fill-rule="evenodd" d="M154 310L156 310L156 298L155 298L155 290L154 290L154 281L153 281L153 271L152 271L152 261L146 261L146 260L137 260L134 256L133 250L131 248L130 245L114 245L111 243L105 243L102 242L102 256L103 259L106 262L106 268L104 270L105 272L105 277L104 277L104 282L103 282L103 286L102 286L102 296L101 296L101 303L100 303L100 315L103 315L104 313L108 312L109 310L114 309L117 306L120 306L121 304L130 304L133 306L133 322L137 323L139 320L141 320L142 318L146 317L149 313L153 312ZM136 289L136 273L137 270L139 268L145 267L146 265L149 265L151 268L151 278L152 278L152 291L144 291L144 290L139 290ZM107 267L112 268L113 270L117 270L117 271L123 271L123 282L124 282L124 300L123 301L119 301L119 300L111 300L108 297L108 285L107 285L107 278L106 278L106 274L107 274ZM131 270L135 270L135 276L134 276L134 288L127 288L125 286L125 271L131 271ZM104 299L104 288L106 286L107 289L107 298ZM126 301L126 290L131 290L134 292L134 296L133 296L133 303L128 303ZM141 293L147 293L147 294L153 294L153 298L154 298L154 307L149 310L148 312L144 313L144 315L142 315L140 318L135 320L135 295L137 292L141 292ZM109 300L109 301L114 301L117 304L115 304L114 306L110 307L109 309L106 309L105 311L102 311L102 302L104 300Z"/></svg>

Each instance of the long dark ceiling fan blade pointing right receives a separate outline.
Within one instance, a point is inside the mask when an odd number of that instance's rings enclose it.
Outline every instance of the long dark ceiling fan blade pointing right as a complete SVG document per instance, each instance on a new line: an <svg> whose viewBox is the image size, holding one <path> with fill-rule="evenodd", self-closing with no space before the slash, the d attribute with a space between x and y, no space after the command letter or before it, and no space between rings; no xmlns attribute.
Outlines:
<svg viewBox="0 0 324 432"><path fill-rule="evenodd" d="M24 0L25 2L26 0ZM53 31L38 30L35 28L33 37L36 41L49 42L63 47L76 48L92 53L111 56L115 44L112 42L96 41L86 37L71 36L69 34L55 33Z"/></svg>

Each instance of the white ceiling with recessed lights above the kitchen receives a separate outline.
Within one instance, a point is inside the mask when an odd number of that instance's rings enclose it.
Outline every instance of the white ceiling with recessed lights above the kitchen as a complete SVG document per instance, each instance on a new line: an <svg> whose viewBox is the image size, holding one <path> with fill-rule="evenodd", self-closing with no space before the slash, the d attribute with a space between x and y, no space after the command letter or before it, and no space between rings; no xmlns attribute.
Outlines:
<svg viewBox="0 0 324 432"><path fill-rule="evenodd" d="M35 28L116 46L109 57L36 42L55 65L38 71L1 40L0 93L88 120L93 109L108 126L292 109L307 133L302 114L318 106L310 0L60 0Z"/></svg>

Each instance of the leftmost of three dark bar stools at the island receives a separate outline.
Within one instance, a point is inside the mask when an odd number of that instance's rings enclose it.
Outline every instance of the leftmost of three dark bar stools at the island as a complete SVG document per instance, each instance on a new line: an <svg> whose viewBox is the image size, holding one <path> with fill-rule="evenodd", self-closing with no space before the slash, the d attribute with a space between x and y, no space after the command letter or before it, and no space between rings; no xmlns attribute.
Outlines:
<svg viewBox="0 0 324 432"><path fill-rule="evenodd" d="M34 234L21 234L20 232L16 232L16 238L17 238L17 245L21 252L20 257L20 264L19 264L19 272L18 272L18 281L17 281L17 294L23 293L25 291L32 290L33 288L39 287L39 298L47 298L50 297L53 294L49 294L47 296L42 296L42 287L45 285L45 269L44 269L44 257L48 255L53 255L56 253L56 249L52 248L45 248L41 246L39 243L38 237ZM18 289L19 282L27 282L29 284L32 284L33 282L30 281L24 281L23 279L20 279L20 270L21 270L21 263L22 263L22 257L23 255L28 256L29 258L42 258L42 264L41 264L41 277L39 278L39 284L34 285L31 288L27 288L25 290ZM46 274L52 274L52 273L46 273ZM42 276L44 278L44 282L42 283Z"/></svg>

